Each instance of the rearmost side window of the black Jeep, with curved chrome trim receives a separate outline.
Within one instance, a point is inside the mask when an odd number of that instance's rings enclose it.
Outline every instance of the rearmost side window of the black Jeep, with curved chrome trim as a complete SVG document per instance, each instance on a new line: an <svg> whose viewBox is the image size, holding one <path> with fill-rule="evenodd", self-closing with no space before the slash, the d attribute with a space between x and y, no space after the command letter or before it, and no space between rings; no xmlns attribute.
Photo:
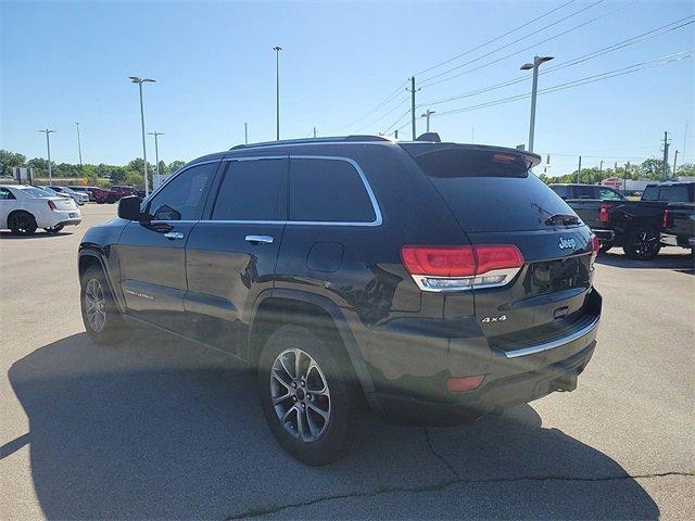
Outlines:
<svg viewBox="0 0 695 521"><path fill-rule="evenodd" d="M375 209L359 173L342 160L290 160L289 220L374 223Z"/></svg>

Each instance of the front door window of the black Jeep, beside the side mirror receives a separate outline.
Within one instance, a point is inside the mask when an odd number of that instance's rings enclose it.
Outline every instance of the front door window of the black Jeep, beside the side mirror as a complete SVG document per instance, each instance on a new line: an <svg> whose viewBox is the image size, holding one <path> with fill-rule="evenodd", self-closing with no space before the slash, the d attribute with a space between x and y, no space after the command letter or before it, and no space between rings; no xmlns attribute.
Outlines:
<svg viewBox="0 0 695 521"><path fill-rule="evenodd" d="M149 203L155 220L192 220L203 204L203 193L219 162L191 166L177 175Z"/></svg>

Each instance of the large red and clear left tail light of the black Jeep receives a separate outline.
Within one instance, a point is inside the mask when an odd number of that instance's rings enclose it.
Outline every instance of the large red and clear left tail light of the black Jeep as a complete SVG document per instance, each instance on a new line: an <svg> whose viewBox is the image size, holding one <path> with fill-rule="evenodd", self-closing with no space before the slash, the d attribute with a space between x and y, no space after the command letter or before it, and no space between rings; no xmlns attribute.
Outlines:
<svg viewBox="0 0 695 521"><path fill-rule="evenodd" d="M523 266L514 245L403 246L401 259L425 291L464 291L508 283Z"/></svg>

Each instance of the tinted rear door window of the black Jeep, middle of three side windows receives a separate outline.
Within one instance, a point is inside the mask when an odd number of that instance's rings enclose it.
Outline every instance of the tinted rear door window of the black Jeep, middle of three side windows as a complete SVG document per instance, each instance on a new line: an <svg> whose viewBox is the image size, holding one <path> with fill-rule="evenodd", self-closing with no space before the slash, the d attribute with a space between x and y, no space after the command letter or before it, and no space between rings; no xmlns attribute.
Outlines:
<svg viewBox="0 0 695 521"><path fill-rule="evenodd" d="M230 161L213 209L216 220L278 220L287 160Z"/></svg>

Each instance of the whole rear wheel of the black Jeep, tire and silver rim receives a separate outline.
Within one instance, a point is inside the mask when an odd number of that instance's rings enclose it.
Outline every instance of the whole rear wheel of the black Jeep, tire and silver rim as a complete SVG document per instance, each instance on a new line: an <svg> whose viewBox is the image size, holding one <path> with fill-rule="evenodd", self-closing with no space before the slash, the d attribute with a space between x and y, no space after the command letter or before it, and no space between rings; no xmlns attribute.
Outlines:
<svg viewBox="0 0 695 521"><path fill-rule="evenodd" d="M270 432L306 465L336 461L368 437L372 417L334 334L294 325L275 331L261 352L257 386Z"/></svg>

